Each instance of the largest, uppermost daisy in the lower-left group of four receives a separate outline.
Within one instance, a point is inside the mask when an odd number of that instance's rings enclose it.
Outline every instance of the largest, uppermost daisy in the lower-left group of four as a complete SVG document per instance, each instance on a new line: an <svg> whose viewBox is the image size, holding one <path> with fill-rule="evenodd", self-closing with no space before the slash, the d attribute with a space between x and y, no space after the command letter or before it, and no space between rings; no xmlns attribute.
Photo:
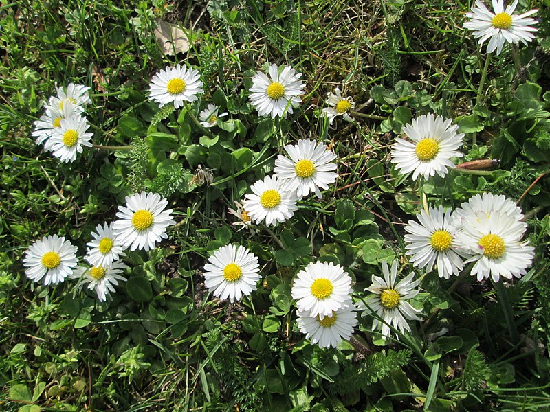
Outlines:
<svg viewBox="0 0 550 412"><path fill-rule="evenodd" d="M168 201L157 193L136 193L126 196L126 207L119 206L113 222L113 231L122 247L154 249L155 244L168 238L166 227L175 225L173 209L166 209Z"/></svg>

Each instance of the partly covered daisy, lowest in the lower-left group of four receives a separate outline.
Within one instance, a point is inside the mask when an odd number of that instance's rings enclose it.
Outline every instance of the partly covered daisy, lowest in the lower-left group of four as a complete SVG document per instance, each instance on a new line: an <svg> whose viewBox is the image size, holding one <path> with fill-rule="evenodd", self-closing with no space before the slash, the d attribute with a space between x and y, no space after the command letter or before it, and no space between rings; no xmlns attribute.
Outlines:
<svg viewBox="0 0 550 412"><path fill-rule="evenodd" d="M126 282L126 277L120 276L120 273L127 269L122 260L116 260L112 264L102 266L96 265L91 268L78 266L74 271L72 278L80 279L76 284L77 288L82 288L87 284L88 289L95 289L100 302L107 300L111 292L115 292L114 286L118 286L118 281Z"/></svg>

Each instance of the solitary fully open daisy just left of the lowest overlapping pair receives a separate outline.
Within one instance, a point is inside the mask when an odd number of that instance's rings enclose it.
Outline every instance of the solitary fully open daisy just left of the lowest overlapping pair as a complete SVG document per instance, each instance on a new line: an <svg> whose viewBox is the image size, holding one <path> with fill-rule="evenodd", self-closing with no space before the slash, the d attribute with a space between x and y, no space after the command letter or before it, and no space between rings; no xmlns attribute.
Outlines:
<svg viewBox="0 0 550 412"><path fill-rule="evenodd" d="M245 247L228 244L204 265L204 284L221 300L233 303L256 290L260 279L258 258Z"/></svg>

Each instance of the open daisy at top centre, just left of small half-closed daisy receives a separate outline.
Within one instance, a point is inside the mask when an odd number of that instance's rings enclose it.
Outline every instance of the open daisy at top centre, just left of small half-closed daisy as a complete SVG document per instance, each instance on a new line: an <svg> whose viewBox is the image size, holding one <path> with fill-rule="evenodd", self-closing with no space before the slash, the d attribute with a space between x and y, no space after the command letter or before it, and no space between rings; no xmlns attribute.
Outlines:
<svg viewBox="0 0 550 412"><path fill-rule="evenodd" d="M302 73L289 66L283 66L281 74L277 65L270 66L270 78L264 73L257 71L252 78L250 88L250 102L258 110L258 115L271 115L274 119L277 116L287 118L292 114L294 107L298 106L302 99L305 84L301 82Z"/></svg>

